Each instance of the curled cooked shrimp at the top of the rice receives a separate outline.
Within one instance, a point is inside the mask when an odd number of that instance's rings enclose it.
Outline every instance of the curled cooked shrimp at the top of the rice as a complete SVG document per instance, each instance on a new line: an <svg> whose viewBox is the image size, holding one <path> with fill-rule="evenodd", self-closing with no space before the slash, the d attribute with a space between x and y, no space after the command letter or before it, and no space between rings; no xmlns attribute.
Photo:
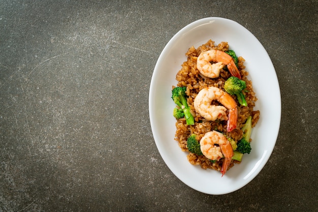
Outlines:
<svg viewBox="0 0 318 212"><path fill-rule="evenodd" d="M211 64L210 61L216 63ZM224 65L228 66L231 75L241 79L241 75L235 65L234 60L225 52L220 50L209 50L202 52L197 60L197 68L199 69L199 72L203 76L209 78L217 78Z"/></svg>

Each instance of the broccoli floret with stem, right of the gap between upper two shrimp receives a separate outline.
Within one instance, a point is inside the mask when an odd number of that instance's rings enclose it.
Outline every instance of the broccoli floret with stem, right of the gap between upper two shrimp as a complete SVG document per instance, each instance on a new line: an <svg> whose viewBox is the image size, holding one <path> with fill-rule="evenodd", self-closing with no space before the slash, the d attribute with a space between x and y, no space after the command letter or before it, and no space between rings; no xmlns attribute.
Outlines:
<svg viewBox="0 0 318 212"><path fill-rule="evenodd" d="M246 83L244 80L240 80L237 77L230 77L224 83L224 89L231 95L236 95L238 102L247 107L247 102L242 90L246 88Z"/></svg>

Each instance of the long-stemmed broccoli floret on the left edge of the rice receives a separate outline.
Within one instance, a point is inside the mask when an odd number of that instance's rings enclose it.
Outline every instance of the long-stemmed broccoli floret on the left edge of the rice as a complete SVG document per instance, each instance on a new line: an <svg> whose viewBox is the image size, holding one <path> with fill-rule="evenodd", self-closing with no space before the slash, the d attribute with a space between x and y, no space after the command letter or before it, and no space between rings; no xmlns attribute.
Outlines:
<svg viewBox="0 0 318 212"><path fill-rule="evenodd" d="M180 109L182 109L185 121L187 125L194 125L195 124L195 119L190 113L190 109L188 107L188 104L186 102L186 87L175 87L172 90L172 99L173 101L179 106Z"/></svg>

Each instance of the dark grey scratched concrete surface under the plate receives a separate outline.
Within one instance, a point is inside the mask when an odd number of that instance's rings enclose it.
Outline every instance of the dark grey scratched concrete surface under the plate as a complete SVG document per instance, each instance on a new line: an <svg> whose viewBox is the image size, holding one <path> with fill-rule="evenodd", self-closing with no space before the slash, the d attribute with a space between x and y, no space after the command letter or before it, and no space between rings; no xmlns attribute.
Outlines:
<svg viewBox="0 0 318 212"><path fill-rule="evenodd" d="M1 1L0 211L317 211L317 14L303 0ZM204 17L255 34L282 98L270 160L220 196L176 178L148 115L158 56Z"/></svg>

